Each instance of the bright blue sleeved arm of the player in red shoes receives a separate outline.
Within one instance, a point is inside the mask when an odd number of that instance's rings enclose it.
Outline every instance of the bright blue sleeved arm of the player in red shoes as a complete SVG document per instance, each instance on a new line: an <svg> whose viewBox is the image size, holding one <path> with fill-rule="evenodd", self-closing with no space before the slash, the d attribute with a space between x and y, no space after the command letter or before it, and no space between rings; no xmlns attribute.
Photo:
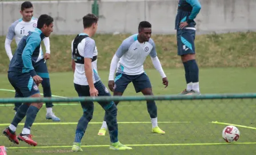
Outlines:
<svg viewBox="0 0 256 155"><path fill-rule="evenodd" d="M42 78L40 78L34 70L32 65L32 54L35 51L35 48L39 46L41 43L41 38L37 36L29 36L26 40L26 46L22 52L22 62L23 62L23 69L22 72L29 72L31 77L35 80L35 83L41 83Z"/></svg>

